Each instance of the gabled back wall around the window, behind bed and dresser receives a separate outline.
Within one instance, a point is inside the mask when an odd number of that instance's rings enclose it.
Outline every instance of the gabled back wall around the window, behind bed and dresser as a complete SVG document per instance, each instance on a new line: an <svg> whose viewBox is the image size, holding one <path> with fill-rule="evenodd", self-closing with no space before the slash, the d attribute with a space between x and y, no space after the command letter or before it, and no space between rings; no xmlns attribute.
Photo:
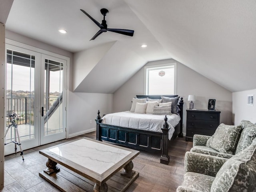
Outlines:
<svg viewBox="0 0 256 192"><path fill-rule="evenodd" d="M221 111L221 122L232 124L232 93L230 91L173 59L148 62L146 66L173 62L177 63L177 94L184 100L183 132L186 132L189 94L196 96L194 108L197 109L207 109L208 100L216 99L215 107ZM144 94L144 67L114 92L113 111L130 110L132 98L139 94Z"/></svg>

